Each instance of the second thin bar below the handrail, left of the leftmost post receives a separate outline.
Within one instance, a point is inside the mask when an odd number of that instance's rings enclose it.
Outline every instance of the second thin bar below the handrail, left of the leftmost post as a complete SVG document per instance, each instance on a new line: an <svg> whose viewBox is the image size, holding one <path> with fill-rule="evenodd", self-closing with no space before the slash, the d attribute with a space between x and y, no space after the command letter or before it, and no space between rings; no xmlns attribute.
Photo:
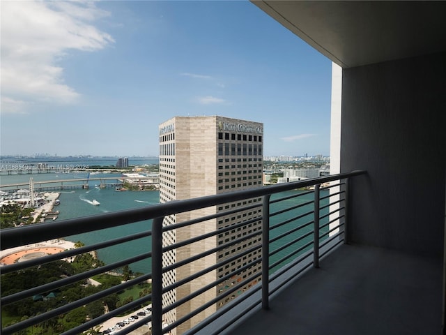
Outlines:
<svg viewBox="0 0 446 335"><path fill-rule="evenodd" d="M134 256L132 258L128 258L125 260L120 260L119 262L114 262L109 265L105 265L103 267L97 267L95 269L84 271L81 274L74 274L72 276L68 276L66 278L62 278L59 281L53 281L52 283L46 283L36 288L29 288L28 290L24 290L21 292L13 293L12 295L8 295L7 297L2 297L0 302L2 305L11 304L14 301L18 301L24 299L26 297L31 297L33 295L38 295L40 292L51 291L55 288L61 288L62 286L66 286L72 283L76 283L77 281L82 281L91 276L95 276L96 274L103 274L109 270L116 269L117 267L121 267L123 265L128 265L133 262L137 262L139 260L144 260L146 258L150 258L151 253L143 253L138 256ZM140 277L139 277L140 278Z"/></svg>

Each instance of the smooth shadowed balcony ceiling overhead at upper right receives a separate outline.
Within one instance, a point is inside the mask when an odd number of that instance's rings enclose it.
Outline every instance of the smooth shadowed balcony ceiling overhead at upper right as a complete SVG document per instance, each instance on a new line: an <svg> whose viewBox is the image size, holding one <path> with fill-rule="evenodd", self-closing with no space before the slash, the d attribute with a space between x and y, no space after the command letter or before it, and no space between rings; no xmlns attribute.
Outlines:
<svg viewBox="0 0 446 335"><path fill-rule="evenodd" d="M446 51L446 1L252 1L343 68Z"/></svg>

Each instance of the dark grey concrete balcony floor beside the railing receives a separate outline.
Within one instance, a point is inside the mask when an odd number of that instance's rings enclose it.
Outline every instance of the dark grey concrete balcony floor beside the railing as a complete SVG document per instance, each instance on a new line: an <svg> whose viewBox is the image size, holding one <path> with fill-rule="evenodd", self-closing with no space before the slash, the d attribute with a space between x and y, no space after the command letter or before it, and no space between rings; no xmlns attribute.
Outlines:
<svg viewBox="0 0 446 335"><path fill-rule="evenodd" d="M440 334L441 260L343 245L226 334Z"/></svg>

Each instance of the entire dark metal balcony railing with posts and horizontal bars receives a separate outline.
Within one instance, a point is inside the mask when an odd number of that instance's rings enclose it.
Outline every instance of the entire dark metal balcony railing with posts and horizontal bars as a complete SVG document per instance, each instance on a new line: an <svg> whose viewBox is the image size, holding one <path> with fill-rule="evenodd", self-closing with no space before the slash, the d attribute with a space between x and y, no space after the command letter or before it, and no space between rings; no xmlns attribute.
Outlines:
<svg viewBox="0 0 446 335"><path fill-rule="evenodd" d="M189 330L188 333L193 334L214 322L223 313L226 313L229 308L240 304L248 297L252 297L254 293L261 290L261 299L255 301L254 304L261 304L263 308L268 308L268 299L270 295L279 287L270 290L269 283L289 269L300 265L300 271L304 271L310 266L318 267L318 261L325 253L334 248L337 244L346 241L346 230L348 228L348 182L351 177L364 174L364 171L355 171L351 173L336 174L328 177L321 177L316 179L307 179L305 181L297 181L289 184L278 184L275 186L263 186L245 191L236 191L232 193L223 193L220 195L211 195L203 198L195 198L190 200L173 201L165 204L157 204L141 209L131 209L125 211L116 211L107 214L100 214L98 216L89 216L83 218L75 218L66 221L39 223L35 225L27 225L20 228L8 228L1 231L1 250L13 248L17 246L26 246L35 244L40 241L47 241L49 239L58 239L59 237L68 237L75 234L93 232L97 230L105 230L118 226L129 225L139 221L147 221L148 229L135 234L102 241L90 246L82 246L80 248L63 251L54 255L47 255L42 258L27 260L26 262L17 262L13 265L6 265L0 268L1 275L20 272L24 269L36 268L41 265L53 262L55 260L64 260L98 251L109 246L122 246L125 248L125 243L134 241L136 239L151 239L151 246L148 244L147 250L142 250L138 255L132 255L130 258L113 262L112 264L103 265L95 269L89 269L82 273L73 274L69 276L61 276L61 278L54 278L49 283L37 285L36 287L26 288L20 292L8 292L8 295L1 297L1 306L15 304L22 299L32 299L36 295L41 295L43 292L52 292L63 288L66 285L72 285L79 281L86 281L86 279L98 274L104 274L107 271L123 267L125 265L132 265L134 262L143 260L144 262L151 262L151 272L142 274L137 278L132 278L119 285L112 286L100 292L95 292L91 295L77 299L75 301L63 301L59 306L45 309L36 315L29 315L26 320L21 320L13 325L3 325L1 334L14 334L33 327L34 325L43 325L44 322L65 315L66 313L90 304L93 301L103 301L107 296L121 292L126 288L132 288L135 285L151 280L152 292L148 295L143 295L139 299L130 301L123 306L109 311L103 315L86 320L82 325L72 327L72 329L63 334L79 334L92 329L95 326L102 325L103 322L115 316L129 313L136 308L151 304L152 311L144 318L139 318L123 329L120 329L118 334L128 334L134 329L142 327L143 325L151 325L151 334L160 335L167 334L173 329L179 327L183 322L194 318L196 315L205 311L207 308L216 309L215 313L210 315L205 320L198 323ZM330 183L330 186L326 186ZM325 186L325 187L321 187ZM314 188L313 188L314 187ZM293 192L284 194L286 191L296 189L307 189L307 191ZM206 207L215 207L233 202L240 202L243 200L252 200L254 198L261 198L261 202L247 201L247 205L243 208L236 207L227 209L225 207L221 211L214 211L215 214L203 216L198 219L188 220L176 223L174 225L163 225L164 218L172 214L180 214L197 209L204 209ZM204 234L196 234L185 241L176 241L173 244L166 244L164 237L169 232L174 232L182 228L192 228L194 225L209 221L211 219L218 219L228 214L237 214L241 211L249 209L261 209L260 215L256 218L251 218L245 222L240 222L231 225L230 223L222 228L215 229ZM148 221L151 220L151 221ZM250 229L258 223L261 229ZM231 239L217 239L222 237L226 232L233 232L235 230L244 230L243 234L231 235ZM213 248L208 248L206 251L200 251L197 254L172 262L163 267L163 257L166 258L169 251L176 251L184 246L190 246L194 243L212 239L220 241L215 244ZM258 243L249 243L249 241L258 241ZM238 247L237 253L231 253L227 257L218 258L217 253L229 250L233 246L242 246L246 243L245 248ZM252 255L256 251L259 257L249 258L247 255ZM163 276L171 271L176 271L180 267L190 266L193 262L201 262L204 258L215 256L215 264L207 267L202 266L199 270L191 273L185 278L179 278L174 283L169 283L163 286ZM308 260L312 257L311 262L302 263L303 260ZM243 260L240 262L239 260ZM233 262L240 262L235 269L229 272L218 271L224 269L226 265ZM249 269L258 269L261 265L261 273L259 271L248 275ZM166 294L172 290L177 290L182 285L192 283L201 276L215 273L215 281L206 282L201 288L190 292L189 294L178 297L175 301L166 301ZM240 274L245 274L241 276ZM239 276L239 281L231 281L234 276ZM256 281L256 285L251 283ZM164 281L165 283L165 281ZM248 288L248 289L247 289ZM215 290L215 297L208 299L208 301L201 304L201 306L194 307L190 313L186 315L177 315L176 321L167 324L165 322L165 315L167 313L174 313L176 308L183 304L190 303L203 292L208 290ZM223 302L222 302L223 301ZM224 301L230 301L229 304L224 304ZM215 307L218 306L218 307ZM221 308L220 308L221 307ZM102 329L103 330L103 329ZM215 329L217 334L219 329Z"/></svg>

